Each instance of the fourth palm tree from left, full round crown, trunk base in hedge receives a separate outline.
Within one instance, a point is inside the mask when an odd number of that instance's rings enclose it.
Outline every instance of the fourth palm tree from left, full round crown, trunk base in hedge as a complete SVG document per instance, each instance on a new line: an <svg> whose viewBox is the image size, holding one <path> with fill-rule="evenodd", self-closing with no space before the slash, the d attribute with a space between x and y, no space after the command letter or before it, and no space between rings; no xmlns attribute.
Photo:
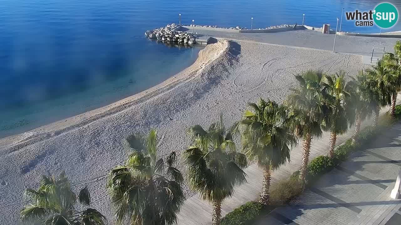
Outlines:
<svg viewBox="0 0 401 225"><path fill-rule="evenodd" d="M263 169L260 203L267 205L271 173L290 161L292 146L297 144L294 133L287 126L288 108L271 100L260 99L258 104L248 103L253 110L245 110L240 126L243 153L256 160Z"/></svg>

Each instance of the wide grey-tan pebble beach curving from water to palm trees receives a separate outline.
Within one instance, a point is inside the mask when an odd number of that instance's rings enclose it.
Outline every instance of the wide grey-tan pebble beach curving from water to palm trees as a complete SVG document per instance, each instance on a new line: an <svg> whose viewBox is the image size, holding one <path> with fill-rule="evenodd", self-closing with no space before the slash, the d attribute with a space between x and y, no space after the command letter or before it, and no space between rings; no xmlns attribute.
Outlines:
<svg viewBox="0 0 401 225"><path fill-rule="evenodd" d="M112 212L106 175L127 153L121 140L155 128L159 156L181 153L191 125L208 126L223 112L227 125L258 98L282 102L296 85L294 74L309 69L353 76L365 68L362 56L245 40L219 40L201 50L196 62L163 83L129 98L0 140L0 224L15 224L25 203L22 192L36 188L41 174L64 169L74 188L85 185L107 218ZM160 68L162 70L162 68ZM185 166L178 166L185 173ZM187 197L193 195L184 187Z"/></svg>

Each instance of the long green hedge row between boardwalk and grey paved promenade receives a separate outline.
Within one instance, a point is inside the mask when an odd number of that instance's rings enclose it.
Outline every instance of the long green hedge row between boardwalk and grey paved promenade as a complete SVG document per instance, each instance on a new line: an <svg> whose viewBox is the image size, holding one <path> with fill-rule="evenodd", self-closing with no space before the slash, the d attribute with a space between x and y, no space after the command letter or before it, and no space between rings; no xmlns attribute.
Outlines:
<svg viewBox="0 0 401 225"><path fill-rule="evenodd" d="M401 105L395 108L396 119L401 118ZM370 143L380 131L391 125L394 121L388 119L386 113L379 119L377 127L365 127L360 131L356 141L349 139L334 151L334 157L319 156L313 159L308 165L307 184L312 185L322 175L331 171L334 167L346 160L352 153ZM234 209L221 220L221 225L252 225L254 221L269 214L273 209L280 205L287 205L292 199L302 194L304 185L298 181L299 171L296 171L290 179L281 181L270 193L269 205L262 205L258 202L248 202L245 205Z"/></svg>

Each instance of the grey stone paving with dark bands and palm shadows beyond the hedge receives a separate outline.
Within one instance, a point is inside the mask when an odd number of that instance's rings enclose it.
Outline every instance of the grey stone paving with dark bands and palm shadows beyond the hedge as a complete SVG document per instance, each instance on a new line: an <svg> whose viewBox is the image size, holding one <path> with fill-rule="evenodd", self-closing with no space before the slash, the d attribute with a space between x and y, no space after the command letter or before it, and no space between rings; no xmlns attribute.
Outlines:
<svg viewBox="0 0 401 225"><path fill-rule="evenodd" d="M400 159L401 122L255 225L401 224L401 200L390 198Z"/></svg>

